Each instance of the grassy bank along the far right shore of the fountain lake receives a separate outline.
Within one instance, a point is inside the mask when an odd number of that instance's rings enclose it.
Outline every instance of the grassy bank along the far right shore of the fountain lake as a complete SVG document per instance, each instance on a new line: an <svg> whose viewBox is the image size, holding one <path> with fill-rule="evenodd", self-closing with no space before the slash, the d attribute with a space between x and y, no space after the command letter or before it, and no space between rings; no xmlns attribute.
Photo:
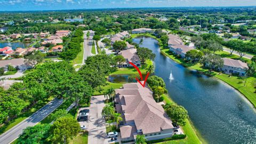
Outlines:
<svg viewBox="0 0 256 144"><path fill-rule="evenodd" d="M211 71L209 73L209 69L203 67L200 63L186 63L182 59L175 58L174 55L169 54L169 49L161 49L161 52L165 54L167 57L171 58L172 60L180 63L181 65L195 69L197 71L200 71L205 74L210 74L211 76L214 76L215 78L220 79L221 81L229 84L230 86L233 86L236 90L241 92L256 108L256 97L255 97L255 89L254 89L254 83L256 83L255 77L249 77L246 80L246 84L244 86L245 80L242 77L239 76L229 76L227 74L218 73L215 71Z"/></svg>

